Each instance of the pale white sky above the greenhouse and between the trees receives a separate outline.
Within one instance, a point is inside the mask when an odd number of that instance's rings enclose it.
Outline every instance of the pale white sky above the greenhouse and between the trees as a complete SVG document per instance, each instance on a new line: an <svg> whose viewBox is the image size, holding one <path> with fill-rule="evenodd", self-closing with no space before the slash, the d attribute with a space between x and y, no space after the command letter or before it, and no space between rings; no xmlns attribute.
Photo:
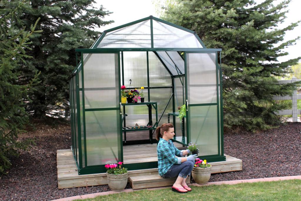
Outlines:
<svg viewBox="0 0 301 201"><path fill-rule="evenodd" d="M104 20L114 20L115 22L109 24L107 26L101 27L99 31L104 31L113 27L117 27L123 24L127 24L129 22L148 17L153 15L154 17L160 18L160 16L156 13L156 7L153 3L154 0L110 0L110 1L101 1L95 0L97 5L103 5L104 8L110 12L113 12L109 16L106 16ZM155 0L158 2L160 0ZM263 2L263 0L256 0L256 2ZM279 3L281 0L275 1L275 3ZM290 2L287 10L289 12L286 14L287 18L284 23L279 24L278 28L284 28L290 25L293 22L301 20L300 15L300 7L301 0L292 0ZM301 24L298 27L295 27L294 30L287 31L284 36L284 41L295 39L296 37L301 36ZM289 53L287 56L279 57L278 60L280 62L287 61L292 58L296 58L301 56L301 40L296 42L296 45L287 47L285 51Z"/></svg>

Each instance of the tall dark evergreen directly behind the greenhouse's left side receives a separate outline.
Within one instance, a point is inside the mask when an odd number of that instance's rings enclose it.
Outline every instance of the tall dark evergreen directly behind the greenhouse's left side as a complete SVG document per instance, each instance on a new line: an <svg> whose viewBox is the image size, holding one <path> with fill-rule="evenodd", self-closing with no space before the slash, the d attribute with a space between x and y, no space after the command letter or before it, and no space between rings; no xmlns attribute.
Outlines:
<svg viewBox="0 0 301 201"><path fill-rule="evenodd" d="M41 18L36 28L43 32L33 35L32 49L27 50L26 54L34 59L27 60L20 67L23 71L20 83L28 83L35 72L41 72L41 83L29 94L32 102L28 104L27 111L36 118L42 118L62 103L67 107L68 77L76 65L75 49L89 48L100 36L95 28L113 21L102 20L110 12L102 6L93 7L95 1L91 0L28 2L30 7L20 18L26 27Z"/></svg>

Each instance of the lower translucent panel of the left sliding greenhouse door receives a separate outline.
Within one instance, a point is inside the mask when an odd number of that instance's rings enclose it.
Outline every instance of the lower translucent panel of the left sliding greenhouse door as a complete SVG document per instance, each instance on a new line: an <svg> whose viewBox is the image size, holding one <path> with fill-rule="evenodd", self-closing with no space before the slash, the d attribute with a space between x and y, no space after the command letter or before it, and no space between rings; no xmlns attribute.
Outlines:
<svg viewBox="0 0 301 201"><path fill-rule="evenodd" d="M85 112L87 165L117 163L119 111Z"/></svg>

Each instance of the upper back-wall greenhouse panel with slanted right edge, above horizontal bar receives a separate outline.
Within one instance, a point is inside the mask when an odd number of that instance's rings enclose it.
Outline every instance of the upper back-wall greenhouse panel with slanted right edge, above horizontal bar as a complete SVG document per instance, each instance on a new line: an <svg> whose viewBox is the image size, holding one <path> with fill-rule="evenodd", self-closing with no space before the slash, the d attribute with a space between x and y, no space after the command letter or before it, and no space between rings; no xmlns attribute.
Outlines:
<svg viewBox="0 0 301 201"><path fill-rule="evenodd" d="M154 52L148 52L150 86L172 86L169 72L163 66Z"/></svg>

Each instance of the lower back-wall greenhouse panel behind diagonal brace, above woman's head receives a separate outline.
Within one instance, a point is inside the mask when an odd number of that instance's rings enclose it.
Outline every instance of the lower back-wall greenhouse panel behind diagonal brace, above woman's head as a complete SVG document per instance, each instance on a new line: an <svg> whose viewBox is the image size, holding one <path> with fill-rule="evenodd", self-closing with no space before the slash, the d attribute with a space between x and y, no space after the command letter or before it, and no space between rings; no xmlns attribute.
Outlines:
<svg viewBox="0 0 301 201"><path fill-rule="evenodd" d="M167 102L172 94L172 88L163 88L163 89L150 89L150 96L151 101L157 102L157 112L158 112L158 121L160 119L160 116L167 105ZM167 106L163 117L161 118L161 121L159 122L159 126L163 123L167 123L168 117L167 113L172 112L172 99L169 102L169 105ZM154 108L152 108L152 119L153 123L156 122L156 111Z"/></svg>

